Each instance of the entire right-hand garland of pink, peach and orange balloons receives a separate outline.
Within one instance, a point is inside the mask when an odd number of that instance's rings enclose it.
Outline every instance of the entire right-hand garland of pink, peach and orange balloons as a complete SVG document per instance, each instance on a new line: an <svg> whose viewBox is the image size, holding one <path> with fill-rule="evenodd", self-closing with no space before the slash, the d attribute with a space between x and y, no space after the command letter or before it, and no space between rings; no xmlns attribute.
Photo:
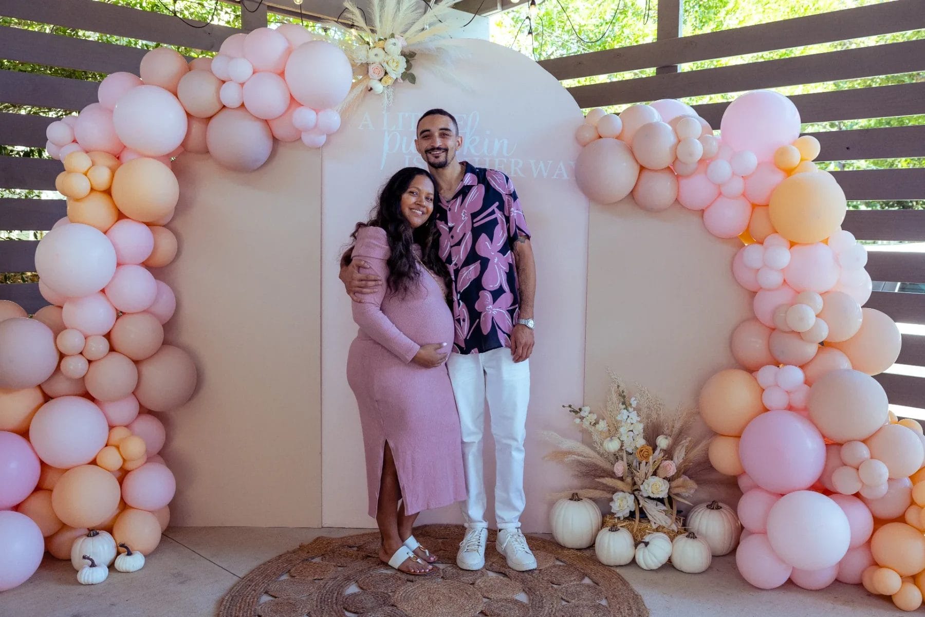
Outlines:
<svg viewBox="0 0 925 617"><path fill-rule="evenodd" d="M872 377L901 337L862 308L867 252L841 228L844 191L812 162L820 143L799 132L796 106L768 91L734 100L720 137L678 101L594 109L576 131L576 180L599 204L678 202L745 244L731 268L755 292L731 341L743 368L710 377L699 397L717 433L709 461L744 492L740 574L767 589L863 583L913 611L925 592L925 438Z"/></svg>

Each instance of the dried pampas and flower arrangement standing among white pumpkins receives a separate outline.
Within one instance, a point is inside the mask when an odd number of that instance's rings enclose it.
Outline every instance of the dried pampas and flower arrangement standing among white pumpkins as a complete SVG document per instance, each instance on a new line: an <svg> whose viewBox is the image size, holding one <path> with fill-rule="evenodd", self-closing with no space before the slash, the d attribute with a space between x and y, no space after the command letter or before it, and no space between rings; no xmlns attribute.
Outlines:
<svg viewBox="0 0 925 617"><path fill-rule="evenodd" d="M678 532L678 502L690 504L686 498L709 471L709 438L690 436L697 409L666 409L645 387L635 384L631 390L611 371L608 376L607 400L598 413L587 406L563 405L590 435L590 446L544 433L555 446L546 459L568 465L581 482L579 489L551 497L558 500L577 493L591 500L610 500L609 518L615 519L614 524L633 516L637 528L644 513L647 527Z"/></svg>

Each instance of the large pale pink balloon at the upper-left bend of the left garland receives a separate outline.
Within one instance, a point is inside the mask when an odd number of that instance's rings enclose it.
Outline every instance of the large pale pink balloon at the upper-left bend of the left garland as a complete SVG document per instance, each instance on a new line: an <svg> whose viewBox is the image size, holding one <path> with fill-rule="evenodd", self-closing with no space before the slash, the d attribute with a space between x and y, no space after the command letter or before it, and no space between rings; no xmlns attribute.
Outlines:
<svg viewBox="0 0 925 617"><path fill-rule="evenodd" d="M186 122L186 110L177 97L149 84L129 90L113 110L119 139L145 156L176 150L186 136Z"/></svg>

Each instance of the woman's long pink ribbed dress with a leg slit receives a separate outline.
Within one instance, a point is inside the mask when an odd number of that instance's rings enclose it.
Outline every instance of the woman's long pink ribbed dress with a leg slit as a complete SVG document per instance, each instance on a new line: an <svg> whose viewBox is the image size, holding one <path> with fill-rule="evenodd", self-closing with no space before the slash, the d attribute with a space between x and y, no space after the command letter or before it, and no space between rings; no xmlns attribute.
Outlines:
<svg viewBox="0 0 925 617"><path fill-rule="evenodd" d="M352 256L388 280L383 228L357 232ZM420 266L419 266L420 267ZM347 381L360 408L369 515L376 516L383 451L391 447L406 514L465 500L459 413L446 364L423 368L412 359L421 345L452 349L453 316L437 281L423 268L415 289L395 294L382 285L352 302L360 327L347 360Z"/></svg>

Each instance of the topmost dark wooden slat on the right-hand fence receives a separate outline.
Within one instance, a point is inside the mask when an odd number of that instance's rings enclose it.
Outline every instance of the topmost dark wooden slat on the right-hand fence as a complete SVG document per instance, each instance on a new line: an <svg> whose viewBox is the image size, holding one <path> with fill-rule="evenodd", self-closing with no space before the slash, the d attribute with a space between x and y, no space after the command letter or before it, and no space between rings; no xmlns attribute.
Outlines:
<svg viewBox="0 0 925 617"><path fill-rule="evenodd" d="M540 62L539 65L558 80L572 80L591 75L845 41L923 27L925 10L922 10L921 0L898 0L734 30L707 32L675 40L552 58Z"/></svg>

